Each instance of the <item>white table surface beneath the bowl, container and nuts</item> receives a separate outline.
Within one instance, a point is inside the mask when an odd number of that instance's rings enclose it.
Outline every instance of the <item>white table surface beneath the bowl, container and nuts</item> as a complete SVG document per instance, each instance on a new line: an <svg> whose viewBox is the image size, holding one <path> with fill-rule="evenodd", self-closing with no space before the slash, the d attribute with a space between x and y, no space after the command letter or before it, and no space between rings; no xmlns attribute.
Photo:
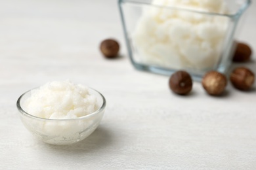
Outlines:
<svg viewBox="0 0 256 170"><path fill-rule="evenodd" d="M256 51L255 15L253 3L238 39ZM102 58L108 37L123 58ZM256 73L255 56L245 65ZM131 65L114 0L1 0L0 59L0 169L256 169L255 85L210 97L195 82L190 95L174 95L169 77ZM37 141L16 100L66 79L105 95L104 118L80 143Z"/></svg>

